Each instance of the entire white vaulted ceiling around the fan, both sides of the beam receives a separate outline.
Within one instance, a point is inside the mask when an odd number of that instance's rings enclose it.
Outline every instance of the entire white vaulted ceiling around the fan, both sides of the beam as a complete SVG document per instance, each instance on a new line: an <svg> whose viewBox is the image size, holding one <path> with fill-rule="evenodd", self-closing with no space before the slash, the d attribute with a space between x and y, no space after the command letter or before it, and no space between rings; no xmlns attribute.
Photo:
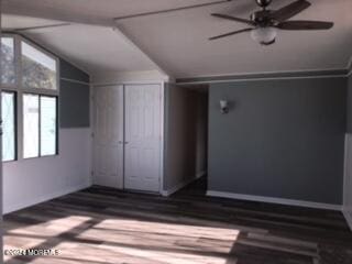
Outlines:
<svg viewBox="0 0 352 264"><path fill-rule="evenodd" d="M254 43L246 33L215 42L207 40L243 28L235 22L212 18L211 12L248 18L256 9L254 0L234 0L120 21L119 29L148 56L131 47L128 40L111 30L116 16L211 1L4 0L3 10L12 14L106 26L77 24L30 33L90 72L155 69L148 57L174 77L341 69L348 66L352 54L351 0L310 0L312 7L295 19L333 21L334 28L320 32L280 31L277 43L266 47ZM272 8L292 1L274 0ZM15 23L12 20L12 24ZM29 26L32 23L22 24Z"/></svg>

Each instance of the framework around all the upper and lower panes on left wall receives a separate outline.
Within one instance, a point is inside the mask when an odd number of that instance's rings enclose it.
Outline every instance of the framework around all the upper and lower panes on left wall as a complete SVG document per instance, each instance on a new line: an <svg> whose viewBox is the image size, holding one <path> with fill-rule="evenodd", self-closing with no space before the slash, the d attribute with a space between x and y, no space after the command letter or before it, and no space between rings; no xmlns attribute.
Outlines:
<svg viewBox="0 0 352 264"><path fill-rule="evenodd" d="M13 37L14 41L14 65L15 65L15 81L12 85L3 84L1 85L3 87L3 90L8 91L14 91L15 92L15 139L16 139L16 148L15 148L15 161L28 161L33 158L44 158L44 157L54 157L59 155L59 90L61 90L61 73L59 73L59 57L56 56L54 53L45 50L44 47L37 45L36 43L33 43L32 41L23 37L19 34L11 34L11 33L4 33L1 35L1 37ZM56 89L46 89L46 88L33 88L33 87L25 87L22 84L22 51L21 51L21 42L24 42L25 44L34 47L38 52L44 53L45 55L53 58L56 63ZM56 98L56 152L53 155L43 155L41 156L41 148L38 152L38 156L36 157L24 157L23 153L23 95L25 94L32 94L37 95L38 98L41 96L47 96L47 97L55 97ZM38 99L40 100L40 99ZM41 122L40 122L41 125ZM41 129L41 127L38 128ZM41 141L41 138L40 138ZM41 142L38 142L41 144ZM14 162L15 162L14 161Z"/></svg>

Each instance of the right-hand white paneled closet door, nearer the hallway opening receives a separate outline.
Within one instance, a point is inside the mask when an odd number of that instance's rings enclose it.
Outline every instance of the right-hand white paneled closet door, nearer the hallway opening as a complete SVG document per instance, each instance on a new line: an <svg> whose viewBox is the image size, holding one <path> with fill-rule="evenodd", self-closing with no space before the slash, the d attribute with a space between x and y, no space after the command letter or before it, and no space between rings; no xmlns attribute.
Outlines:
<svg viewBox="0 0 352 264"><path fill-rule="evenodd" d="M124 188L160 191L161 86L125 86Z"/></svg>

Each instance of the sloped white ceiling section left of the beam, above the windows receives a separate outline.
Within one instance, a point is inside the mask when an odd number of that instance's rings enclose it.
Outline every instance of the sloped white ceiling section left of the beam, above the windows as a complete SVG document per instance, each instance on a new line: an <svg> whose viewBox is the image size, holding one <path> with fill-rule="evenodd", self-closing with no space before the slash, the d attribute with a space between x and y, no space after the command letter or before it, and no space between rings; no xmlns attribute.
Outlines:
<svg viewBox="0 0 352 264"><path fill-rule="evenodd" d="M21 29L61 21L3 15L4 29ZM22 32L38 44L78 65L90 74L102 72L153 70L156 65L112 28L86 24Z"/></svg>

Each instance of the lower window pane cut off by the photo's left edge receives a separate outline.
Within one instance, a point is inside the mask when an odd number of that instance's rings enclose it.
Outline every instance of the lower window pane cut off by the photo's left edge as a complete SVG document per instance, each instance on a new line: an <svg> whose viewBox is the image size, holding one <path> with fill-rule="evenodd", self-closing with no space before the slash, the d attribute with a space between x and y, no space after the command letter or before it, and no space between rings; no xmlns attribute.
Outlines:
<svg viewBox="0 0 352 264"><path fill-rule="evenodd" d="M1 114L2 114L2 161L15 160L15 109L14 92L1 92Z"/></svg>

